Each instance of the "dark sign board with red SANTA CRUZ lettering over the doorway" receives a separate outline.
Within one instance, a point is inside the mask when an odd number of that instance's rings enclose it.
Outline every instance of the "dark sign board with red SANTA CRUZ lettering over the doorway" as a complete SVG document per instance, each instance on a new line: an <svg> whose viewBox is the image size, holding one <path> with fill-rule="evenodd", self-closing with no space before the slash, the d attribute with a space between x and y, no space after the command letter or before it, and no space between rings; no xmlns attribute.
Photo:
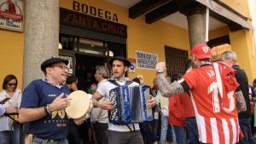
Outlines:
<svg viewBox="0 0 256 144"><path fill-rule="evenodd" d="M103 32L119 37L127 37L127 26L125 25L68 9L61 8L60 14L61 25L84 28L94 32Z"/></svg>

